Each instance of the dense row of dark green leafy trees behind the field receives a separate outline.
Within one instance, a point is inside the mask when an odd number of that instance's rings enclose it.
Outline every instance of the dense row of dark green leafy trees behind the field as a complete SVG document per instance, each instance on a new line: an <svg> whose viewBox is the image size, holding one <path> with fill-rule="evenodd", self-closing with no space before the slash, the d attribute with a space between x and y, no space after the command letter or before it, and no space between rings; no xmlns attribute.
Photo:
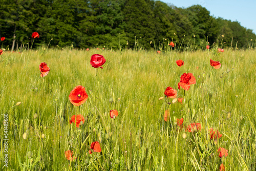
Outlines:
<svg viewBox="0 0 256 171"><path fill-rule="evenodd" d="M246 48L256 39L251 29L211 16L200 5L178 8L153 0L1 0L4 45L14 49L31 45L33 32L40 35L34 45L51 41L50 47L75 48L150 49L163 41L201 48L220 40L222 47Z"/></svg>

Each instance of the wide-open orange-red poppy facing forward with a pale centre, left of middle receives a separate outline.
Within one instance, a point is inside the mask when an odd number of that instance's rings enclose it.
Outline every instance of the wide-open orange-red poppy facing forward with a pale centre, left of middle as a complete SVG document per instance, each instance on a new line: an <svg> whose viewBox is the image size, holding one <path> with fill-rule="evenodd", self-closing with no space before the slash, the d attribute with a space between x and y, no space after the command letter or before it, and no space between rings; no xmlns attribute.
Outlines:
<svg viewBox="0 0 256 171"><path fill-rule="evenodd" d="M83 104L87 99L86 89L80 85L75 87L69 95L70 102L76 106Z"/></svg>

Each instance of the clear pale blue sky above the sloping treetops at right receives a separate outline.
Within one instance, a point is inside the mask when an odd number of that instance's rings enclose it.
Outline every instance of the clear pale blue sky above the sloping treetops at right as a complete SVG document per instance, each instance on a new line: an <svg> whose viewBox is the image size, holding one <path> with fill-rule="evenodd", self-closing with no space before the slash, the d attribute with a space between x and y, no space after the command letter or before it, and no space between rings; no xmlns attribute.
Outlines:
<svg viewBox="0 0 256 171"><path fill-rule="evenodd" d="M255 0L160 0L176 7L201 5L210 11L210 15L238 21L241 26L252 29L256 33L256 1Z"/></svg>

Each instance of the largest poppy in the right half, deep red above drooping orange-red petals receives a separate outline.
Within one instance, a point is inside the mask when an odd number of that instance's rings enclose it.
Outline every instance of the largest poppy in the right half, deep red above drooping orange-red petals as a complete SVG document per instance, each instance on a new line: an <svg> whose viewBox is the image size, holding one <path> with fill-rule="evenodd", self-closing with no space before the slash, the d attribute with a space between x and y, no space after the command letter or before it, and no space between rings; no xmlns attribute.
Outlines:
<svg viewBox="0 0 256 171"><path fill-rule="evenodd" d="M180 77L180 82L178 83L178 88L180 87L184 90L189 90L190 84L195 84L197 82L196 78L191 73L184 73Z"/></svg>

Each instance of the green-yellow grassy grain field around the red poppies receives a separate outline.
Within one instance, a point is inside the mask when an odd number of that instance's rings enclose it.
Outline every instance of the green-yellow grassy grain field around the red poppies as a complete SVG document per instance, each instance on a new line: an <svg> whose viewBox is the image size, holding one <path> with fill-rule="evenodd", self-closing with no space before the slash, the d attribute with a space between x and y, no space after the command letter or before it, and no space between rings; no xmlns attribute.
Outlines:
<svg viewBox="0 0 256 171"><path fill-rule="evenodd" d="M93 54L106 59L97 76ZM1 170L224 170L223 164L225 170L255 170L255 50L39 48L0 57ZM221 68L211 67L210 59ZM41 62L50 68L46 77L40 77ZM183 73L196 78L188 91L178 89ZM75 106L69 95L78 85L88 99ZM160 98L167 87L177 90L182 104ZM110 110L118 116L111 118ZM79 128L69 122L78 114L85 118ZM177 118L184 119L181 125ZM190 123L201 129L189 132ZM89 154L96 141L101 152Z"/></svg>

